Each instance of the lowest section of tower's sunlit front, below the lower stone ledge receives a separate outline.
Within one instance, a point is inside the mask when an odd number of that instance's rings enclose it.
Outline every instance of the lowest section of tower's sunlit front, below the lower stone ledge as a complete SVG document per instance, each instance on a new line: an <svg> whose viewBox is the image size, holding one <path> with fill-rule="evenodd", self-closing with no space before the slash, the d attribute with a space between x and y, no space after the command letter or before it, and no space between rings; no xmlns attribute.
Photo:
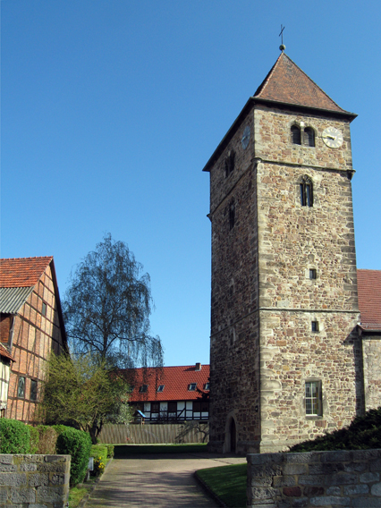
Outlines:
<svg viewBox="0 0 381 508"><path fill-rule="evenodd" d="M314 312L260 312L261 452L275 452L351 423L362 412L361 344L357 317ZM305 383L321 384L318 416L306 414Z"/></svg>

